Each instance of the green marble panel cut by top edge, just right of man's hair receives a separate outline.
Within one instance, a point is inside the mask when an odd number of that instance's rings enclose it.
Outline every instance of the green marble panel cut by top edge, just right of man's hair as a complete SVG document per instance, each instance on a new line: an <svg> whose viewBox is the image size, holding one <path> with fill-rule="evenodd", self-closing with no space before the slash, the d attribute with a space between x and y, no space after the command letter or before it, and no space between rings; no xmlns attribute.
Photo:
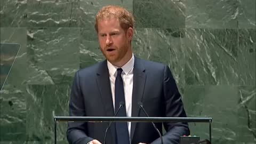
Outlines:
<svg viewBox="0 0 256 144"><path fill-rule="evenodd" d="M133 15L137 28L185 28L183 1L133 0Z"/></svg>

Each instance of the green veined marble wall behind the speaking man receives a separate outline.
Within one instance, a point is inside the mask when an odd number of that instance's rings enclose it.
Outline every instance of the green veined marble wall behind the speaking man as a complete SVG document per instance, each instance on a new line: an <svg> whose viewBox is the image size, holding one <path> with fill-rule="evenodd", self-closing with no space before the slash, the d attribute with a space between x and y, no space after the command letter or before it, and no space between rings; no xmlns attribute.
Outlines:
<svg viewBox="0 0 256 144"><path fill-rule="evenodd" d="M1 0L1 43L21 49L1 92L0 143L53 143L75 71L104 59L93 25L107 4L133 12L135 55L170 66L188 116L213 118L213 143L255 143L255 2ZM209 136L207 124L190 129Z"/></svg>

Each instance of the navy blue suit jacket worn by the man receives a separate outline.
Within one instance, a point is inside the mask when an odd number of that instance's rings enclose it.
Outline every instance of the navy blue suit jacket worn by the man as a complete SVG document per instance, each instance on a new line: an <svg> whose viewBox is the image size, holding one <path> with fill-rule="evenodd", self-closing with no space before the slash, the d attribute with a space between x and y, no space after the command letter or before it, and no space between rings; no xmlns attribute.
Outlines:
<svg viewBox="0 0 256 144"><path fill-rule="evenodd" d="M133 68L132 116L146 116L138 102L143 103L150 117L186 117L181 95L168 66L135 57ZM70 116L114 116L107 61L77 71L70 94ZM155 123L162 133L162 123ZM187 123L163 123L164 143L179 143L188 135ZM69 143L86 144L97 139L103 143L108 123L69 122ZM131 143L160 143L151 123L131 124ZM107 133L106 143L115 143L114 124Z"/></svg>

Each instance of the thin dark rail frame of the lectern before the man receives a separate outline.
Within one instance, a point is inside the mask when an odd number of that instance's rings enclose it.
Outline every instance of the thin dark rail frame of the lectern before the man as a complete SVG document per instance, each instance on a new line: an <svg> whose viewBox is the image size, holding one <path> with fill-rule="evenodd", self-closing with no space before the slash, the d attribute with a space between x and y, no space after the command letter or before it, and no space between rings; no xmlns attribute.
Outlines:
<svg viewBox="0 0 256 144"><path fill-rule="evenodd" d="M73 117L54 116L54 143L57 144L57 122L187 122L209 123L209 139L212 142L211 117Z"/></svg>

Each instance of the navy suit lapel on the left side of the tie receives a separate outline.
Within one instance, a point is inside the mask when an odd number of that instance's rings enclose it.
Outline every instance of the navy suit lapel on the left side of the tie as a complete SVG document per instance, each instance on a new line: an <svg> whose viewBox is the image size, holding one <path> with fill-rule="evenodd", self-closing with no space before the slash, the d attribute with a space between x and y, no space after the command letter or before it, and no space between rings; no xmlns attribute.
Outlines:
<svg viewBox="0 0 256 144"><path fill-rule="evenodd" d="M102 99L102 105L105 108L106 116L114 116L114 107L113 107L112 93L110 89L107 60L101 62L99 65L99 70L97 72L97 84L98 84L101 99ZM115 143L114 123L111 124L110 130L112 135L112 143Z"/></svg>

